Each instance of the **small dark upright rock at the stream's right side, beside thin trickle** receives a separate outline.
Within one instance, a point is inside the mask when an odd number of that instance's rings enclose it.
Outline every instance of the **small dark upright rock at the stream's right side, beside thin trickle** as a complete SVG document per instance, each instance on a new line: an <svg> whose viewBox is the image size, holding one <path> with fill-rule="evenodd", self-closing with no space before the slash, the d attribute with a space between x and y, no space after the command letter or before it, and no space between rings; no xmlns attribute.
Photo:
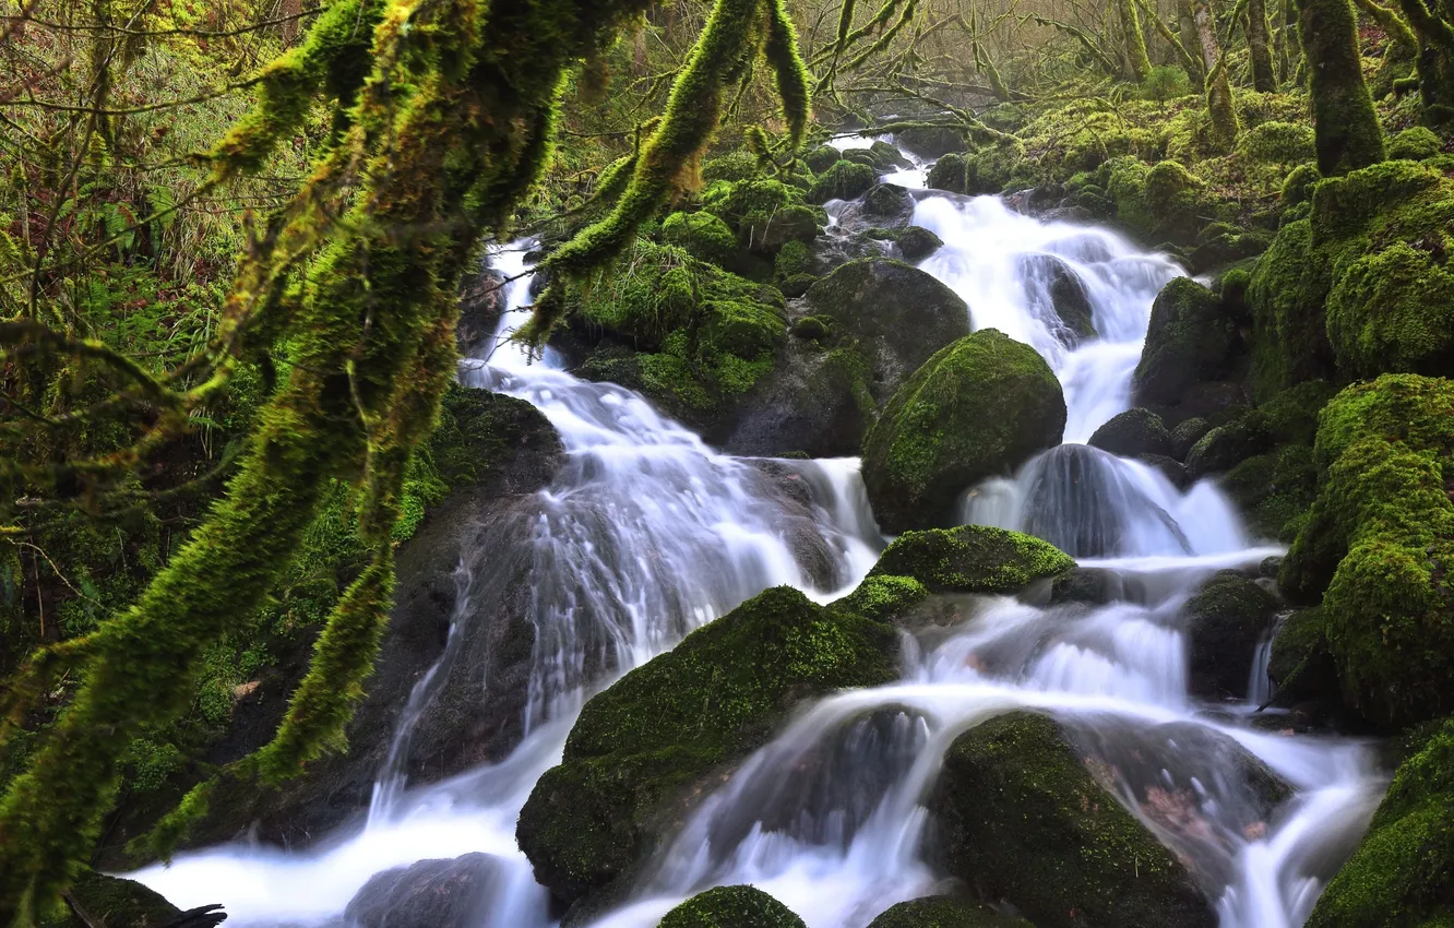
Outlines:
<svg viewBox="0 0 1454 928"><path fill-rule="evenodd" d="M1186 602L1194 694L1246 698L1253 653L1268 636L1277 605L1277 596L1234 570L1223 570Z"/></svg>

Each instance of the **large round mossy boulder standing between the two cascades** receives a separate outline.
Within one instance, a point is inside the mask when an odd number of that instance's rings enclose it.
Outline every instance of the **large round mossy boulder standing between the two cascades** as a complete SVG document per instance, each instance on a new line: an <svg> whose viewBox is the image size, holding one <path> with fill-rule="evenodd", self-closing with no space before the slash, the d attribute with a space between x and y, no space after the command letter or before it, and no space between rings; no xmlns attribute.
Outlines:
<svg viewBox="0 0 1454 928"><path fill-rule="evenodd" d="M960 493L1060 444L1066 400L1045 359L984 329L900 387L864 439L864 480L887 532L952 518Z"/></svg>

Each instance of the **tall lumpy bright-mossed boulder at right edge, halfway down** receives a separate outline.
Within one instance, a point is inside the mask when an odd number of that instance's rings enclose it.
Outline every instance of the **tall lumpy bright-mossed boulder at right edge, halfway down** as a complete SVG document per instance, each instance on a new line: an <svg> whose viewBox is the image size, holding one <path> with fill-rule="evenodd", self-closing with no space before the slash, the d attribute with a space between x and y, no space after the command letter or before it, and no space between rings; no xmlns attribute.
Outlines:
<svg viewBox="0 0 1454 928"><path fill-rule="evenodd" d="M1322 596L1343 698L1384 726L1454 711L1454 381L1386 374L1323 409L1317 500L1281 585Z"/></svg>

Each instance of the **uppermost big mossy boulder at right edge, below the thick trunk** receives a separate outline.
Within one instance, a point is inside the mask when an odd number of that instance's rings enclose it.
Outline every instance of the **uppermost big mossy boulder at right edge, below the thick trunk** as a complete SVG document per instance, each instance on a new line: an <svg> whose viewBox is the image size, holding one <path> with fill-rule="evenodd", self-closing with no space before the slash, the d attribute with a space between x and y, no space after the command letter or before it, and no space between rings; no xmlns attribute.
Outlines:
<svg viewBox="0 0 1454 928"><path fill-rule="evenodd" d="M1384 161L1317 183L1307 218L1282 225L1252 275L1255 396L1454 372L1451 230L1454 179L1434 164Z"/></svg>

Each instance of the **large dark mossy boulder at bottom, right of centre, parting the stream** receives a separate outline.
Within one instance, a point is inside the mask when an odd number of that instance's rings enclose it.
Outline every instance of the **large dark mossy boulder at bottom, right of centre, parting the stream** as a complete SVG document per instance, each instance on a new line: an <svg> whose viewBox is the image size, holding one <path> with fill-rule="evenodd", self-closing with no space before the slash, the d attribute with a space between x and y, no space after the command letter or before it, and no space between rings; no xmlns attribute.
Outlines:
<svg viewBox="0 0 1454 928"><path fill-rule="evenodd" d="M1044 716L1009 713L955 739L929 807L949 873L1041 928L1216 925L1186 865Z"/></svg>

